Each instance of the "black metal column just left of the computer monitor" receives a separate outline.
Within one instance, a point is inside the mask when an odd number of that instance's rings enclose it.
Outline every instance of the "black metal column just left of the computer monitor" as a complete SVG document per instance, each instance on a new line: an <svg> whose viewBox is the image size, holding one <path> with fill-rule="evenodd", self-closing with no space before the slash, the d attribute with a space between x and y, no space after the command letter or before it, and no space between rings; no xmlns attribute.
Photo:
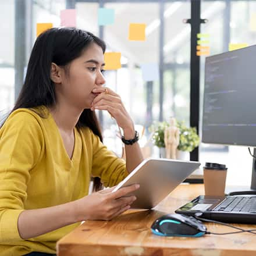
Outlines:
<svg viewBox="0 0 256 256"><path fill-rule="evenodd" d="M190 49L190 126L199 127L200 57L197 56L197 34L200 33L201 1L191 0L191 49ZM190 160L198 160L198 148L190 152Z"/></svg>

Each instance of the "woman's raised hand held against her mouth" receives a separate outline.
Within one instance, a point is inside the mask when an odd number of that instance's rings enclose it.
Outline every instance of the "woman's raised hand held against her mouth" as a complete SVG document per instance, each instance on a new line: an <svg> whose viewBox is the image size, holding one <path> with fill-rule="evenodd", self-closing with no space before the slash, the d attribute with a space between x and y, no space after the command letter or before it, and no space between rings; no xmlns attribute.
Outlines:
<svg viewBox="0 0 256 256"><path fill-rule="evenodd" d="M93 89L93 93L99 93L91 104L91 111L95 109L106 110L116 119L116 123L124 131L134 129L133 120L126 111L125 106L118 94L106 87L98 87Z"/></svg>

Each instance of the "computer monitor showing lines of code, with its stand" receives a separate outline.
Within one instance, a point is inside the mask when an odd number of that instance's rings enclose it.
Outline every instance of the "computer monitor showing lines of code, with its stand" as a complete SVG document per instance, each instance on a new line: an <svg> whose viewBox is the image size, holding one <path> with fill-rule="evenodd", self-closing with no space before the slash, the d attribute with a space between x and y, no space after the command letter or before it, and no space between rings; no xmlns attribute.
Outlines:
<svg viewBox="0 0 256 256"><path fill-rule="evenodd" d="M255 63L256 45L205 59L203 143L256 147ZM255 173L253 159L251 190Z"/></svg>

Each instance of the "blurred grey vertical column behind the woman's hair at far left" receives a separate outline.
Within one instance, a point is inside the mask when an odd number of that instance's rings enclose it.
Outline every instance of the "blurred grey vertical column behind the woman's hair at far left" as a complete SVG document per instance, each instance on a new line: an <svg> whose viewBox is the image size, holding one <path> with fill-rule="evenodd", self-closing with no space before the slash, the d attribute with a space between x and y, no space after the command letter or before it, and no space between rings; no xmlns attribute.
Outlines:
<svg viewBox="0 0 256 256"><path fill-rule="evenodd" d="M25 1L15 0L15 101L23 86L26 63Z"/></svg>

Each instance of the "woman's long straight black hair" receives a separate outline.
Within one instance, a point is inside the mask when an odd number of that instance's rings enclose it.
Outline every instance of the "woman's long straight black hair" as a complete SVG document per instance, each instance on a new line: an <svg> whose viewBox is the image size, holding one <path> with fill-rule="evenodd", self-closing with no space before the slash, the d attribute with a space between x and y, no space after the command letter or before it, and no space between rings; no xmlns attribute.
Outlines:
<svg viewBox="0 0 256 256"><path fill-rule="evenodd" d="M92 43L99 45L105 52L105 42L94 34L74 28L52 28L41 33L35 41L26 78L14 108L52 107L56 104L55 84L51 80L51 64L67 67L78 58ZM43 113L39 115L44 118ZM89 127L102 141L101 129L94 111L84 109L76 124L77 129ZM94 177L94 191L100 190L102 184Z"/></svg>

